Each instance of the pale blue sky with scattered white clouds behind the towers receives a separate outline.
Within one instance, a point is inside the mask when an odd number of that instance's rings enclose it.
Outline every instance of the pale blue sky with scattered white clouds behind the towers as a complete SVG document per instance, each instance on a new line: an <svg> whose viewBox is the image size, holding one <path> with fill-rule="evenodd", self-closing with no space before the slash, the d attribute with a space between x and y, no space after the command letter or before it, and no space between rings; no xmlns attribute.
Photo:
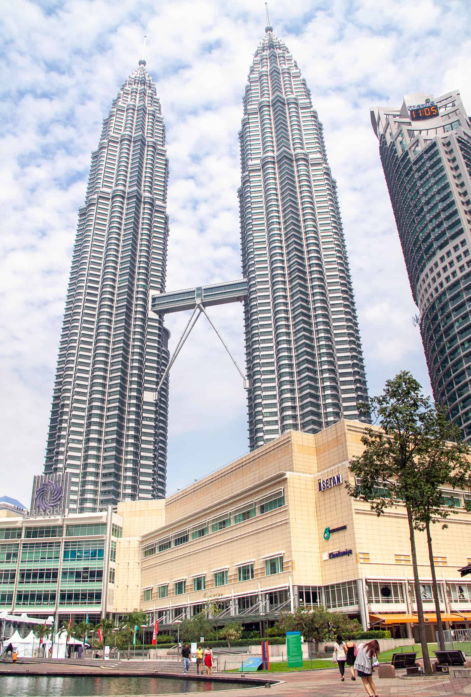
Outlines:
<svg viewBox="0 0 471 697"><path fill-rule="evenodd" d="M337 178L370 394L400 369L430 391L369 107L461 89L468 0L270 1L323 121ZM0 18L0 496L29 505L41 473L77 208L102 118L140 58L167 125L167 289L240 277L242 94L261 0L15 0ZM211 309L244 365L242 306ZM167 323L172 346L185 316ZM168 490L247 452L242 381L200 319L171 371Z"/></svg>

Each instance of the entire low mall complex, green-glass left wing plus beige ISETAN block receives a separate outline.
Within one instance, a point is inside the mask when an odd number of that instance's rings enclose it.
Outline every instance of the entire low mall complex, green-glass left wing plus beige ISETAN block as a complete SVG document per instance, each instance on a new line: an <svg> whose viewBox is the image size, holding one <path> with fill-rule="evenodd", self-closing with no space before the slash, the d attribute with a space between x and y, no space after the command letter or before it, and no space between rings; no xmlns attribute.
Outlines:
<svg viewBox="0 0 471 697"><path fill-rule="evenodd" d="M28 517L0 510L0 610L91 621L134 608L160 630L209 608L219 626L266 627L323 604L397 638L417 631L408 521L378 518L345 489L364 424L289 431L165 500L102 513ZM448 528L433 526L441 610L470 627L471 493L444 489ZM8 516L7 516L8 514ZM429 640L435 614L425 535L416 533Z"/></svg>

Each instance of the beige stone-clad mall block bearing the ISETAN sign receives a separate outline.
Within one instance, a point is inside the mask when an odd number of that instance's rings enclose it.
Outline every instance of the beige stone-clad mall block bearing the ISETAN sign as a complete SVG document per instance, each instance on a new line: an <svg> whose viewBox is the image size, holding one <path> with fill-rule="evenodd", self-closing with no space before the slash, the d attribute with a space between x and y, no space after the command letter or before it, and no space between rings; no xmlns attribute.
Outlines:
<svg viewBox="0 0 471 697"><path fill-rule="evenodd" d="M399 505L378 518L345 489L363 429L344 420L315 435L290 431L167 498L162 526L141 537L141 608L170 629L205 606L220 624L237 617L258 627L299 604L323 604L357 615L365 629L412 637L406 512ZM456 515L432 531L442 612L450 627L468 627L471 581L458 569L471 561L470 495L444 496ZM422 533L417 554L433 638Z"/></svg>

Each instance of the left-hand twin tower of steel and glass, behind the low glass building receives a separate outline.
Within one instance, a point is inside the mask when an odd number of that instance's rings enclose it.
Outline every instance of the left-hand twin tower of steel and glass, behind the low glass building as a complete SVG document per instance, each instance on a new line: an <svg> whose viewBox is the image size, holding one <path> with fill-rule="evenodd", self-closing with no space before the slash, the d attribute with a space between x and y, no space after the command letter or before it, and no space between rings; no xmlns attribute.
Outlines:
<svg viewBox="0 0 471 697"><path fill-rule="evenodd" d="M165 286L169 166L145 66L103 122L79 209L45 461L70 473L78 512L165 496L169 332L148 305Z"/></svg>

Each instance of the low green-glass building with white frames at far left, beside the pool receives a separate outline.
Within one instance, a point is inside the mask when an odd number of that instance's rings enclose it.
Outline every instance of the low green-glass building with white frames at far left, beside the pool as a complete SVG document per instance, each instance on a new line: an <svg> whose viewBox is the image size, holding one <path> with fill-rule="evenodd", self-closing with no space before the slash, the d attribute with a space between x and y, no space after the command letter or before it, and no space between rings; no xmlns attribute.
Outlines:
<svg viewBox="0 0 471 697"><path fill-rule="evenodd" d="M0 609L56 625L86 613L93 622L114 602L121 516L107 512L0 520Z"/></svg>

